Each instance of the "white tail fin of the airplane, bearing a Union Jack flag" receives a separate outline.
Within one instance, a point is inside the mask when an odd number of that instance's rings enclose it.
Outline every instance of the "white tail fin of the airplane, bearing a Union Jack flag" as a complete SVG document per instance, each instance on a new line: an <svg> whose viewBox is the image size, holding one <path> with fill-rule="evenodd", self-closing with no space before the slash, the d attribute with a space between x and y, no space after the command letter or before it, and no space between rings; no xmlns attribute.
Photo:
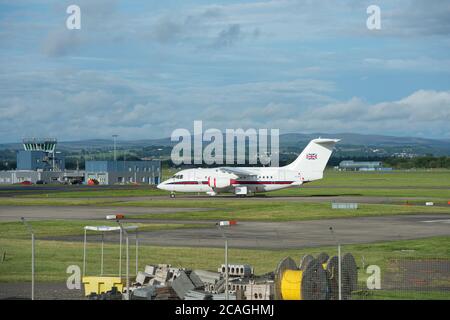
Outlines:
<svg viewBox="0 0 450 320"><path fill-rule="evenodd" d="M285 169L299 171L304 181L314 181L323 178L323 171L333 153L334 145L339 139L311 140L294 162Z"/></svg>

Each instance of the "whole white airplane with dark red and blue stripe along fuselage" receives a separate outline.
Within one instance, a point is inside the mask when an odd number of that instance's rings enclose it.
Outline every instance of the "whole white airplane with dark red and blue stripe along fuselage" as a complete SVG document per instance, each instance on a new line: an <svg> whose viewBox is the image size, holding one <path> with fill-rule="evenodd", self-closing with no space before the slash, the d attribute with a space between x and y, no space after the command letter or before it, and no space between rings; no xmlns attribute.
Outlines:
<svg viewBox="0 0 450 320"><path fill-rule="evenodd" d="M323 171L339 139L314 139L291 164L284 167L218 167L186 169L158 184L171 192L206 192L211 196L232 192L249 195L290 187L323 178Z"/></svg>

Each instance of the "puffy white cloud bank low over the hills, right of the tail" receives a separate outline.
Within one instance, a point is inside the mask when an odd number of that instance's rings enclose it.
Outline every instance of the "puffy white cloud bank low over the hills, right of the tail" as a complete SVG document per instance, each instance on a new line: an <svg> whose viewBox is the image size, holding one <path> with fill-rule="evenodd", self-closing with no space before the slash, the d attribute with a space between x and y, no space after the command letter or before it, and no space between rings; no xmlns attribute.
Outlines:
<svg viewBox="0 0 450 320"><path fill-rule="evenodd" d="M448 138L450 91L418 90L396 101L368 104L359 98L332 103L304 114L308 130L357 131Z"/></svg>

